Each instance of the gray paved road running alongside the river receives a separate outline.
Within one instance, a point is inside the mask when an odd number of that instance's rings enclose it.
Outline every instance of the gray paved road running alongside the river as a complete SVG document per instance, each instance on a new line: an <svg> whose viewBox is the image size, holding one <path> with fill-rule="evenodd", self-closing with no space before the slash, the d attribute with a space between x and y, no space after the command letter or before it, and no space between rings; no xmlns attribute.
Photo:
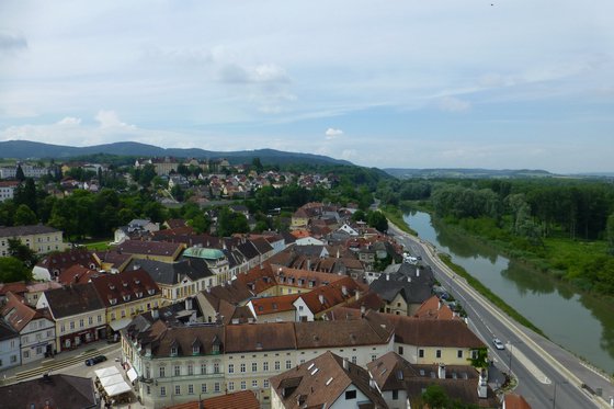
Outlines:
<svg viewBox="0 0 614 409"><path fill-rule="evenodd" d="M511 367L513 378L518 380L515 393L522 395L533 409L611 408L604 399L582 387L582 384L604 385L602 389L607 399L611 396L607 394L614 390L607 379L602 379L603 383L593 379L580 360L512 321L478 294L436 257L436 249L430 243L400 231L390 221L388 224L388 232L411 253L422 257L422 262L431 266L435 279L464 306L469 327L489 345L489 356L494 361L494 366L504 373L510 373ZM503 341L505 350L494 349L493 338ZM559 362L553 355L565 360ZM577 374L583 375L582 380Z"/></svg>

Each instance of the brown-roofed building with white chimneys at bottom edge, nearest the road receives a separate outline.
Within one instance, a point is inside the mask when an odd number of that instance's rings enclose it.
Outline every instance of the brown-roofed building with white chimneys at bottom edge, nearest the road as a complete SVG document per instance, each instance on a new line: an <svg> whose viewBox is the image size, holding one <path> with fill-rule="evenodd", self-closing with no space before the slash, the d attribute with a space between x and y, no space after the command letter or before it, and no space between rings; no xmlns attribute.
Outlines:
<svg viewBox="0 0 614 409"><path fill-rule="evenodd" d="M395 352L367 364L368 373L391 409L412 407L430 385L441 386L456 401L478 408L499 408L482 374L469 365L411 364Z"/></svg>

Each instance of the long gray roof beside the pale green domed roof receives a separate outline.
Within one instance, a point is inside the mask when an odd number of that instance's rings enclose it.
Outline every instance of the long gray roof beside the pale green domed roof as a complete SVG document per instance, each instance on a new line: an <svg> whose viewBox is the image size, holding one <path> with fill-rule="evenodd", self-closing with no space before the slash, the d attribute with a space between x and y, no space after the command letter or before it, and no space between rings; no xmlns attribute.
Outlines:
<svg viewBox="0 0 614 409"><path fill-rule="evenodd" d="M178 284L182 276L186 275L192 281L209 277L213 275L204 260L196 258L182 259L174 263L164 263L156 260L133 260L126 271L140 266L147 271L156 283L173 285Z"/></svg>

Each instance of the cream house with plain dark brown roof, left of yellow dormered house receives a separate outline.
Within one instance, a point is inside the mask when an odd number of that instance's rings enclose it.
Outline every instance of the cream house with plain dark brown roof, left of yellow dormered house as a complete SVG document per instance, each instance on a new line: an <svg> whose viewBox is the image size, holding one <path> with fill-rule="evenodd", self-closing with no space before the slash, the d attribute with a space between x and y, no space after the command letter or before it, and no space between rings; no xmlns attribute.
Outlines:
<svg viewBox="0 0 614 409"><path fill-rule="evenodd" d="M56 325L57 352L106 339L104 304L92 283L44 292L36 309L44 308Z"/></svg>

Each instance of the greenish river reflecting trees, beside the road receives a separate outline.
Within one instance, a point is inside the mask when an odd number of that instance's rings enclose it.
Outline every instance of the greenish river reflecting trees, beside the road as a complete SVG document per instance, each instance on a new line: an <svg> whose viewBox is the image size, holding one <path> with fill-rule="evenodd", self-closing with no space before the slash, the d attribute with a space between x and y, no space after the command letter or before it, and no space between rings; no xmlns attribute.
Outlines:
<svg viewBox="0 0 614 409"><path fill-rule="evenodd" d="M428 213L406 214L403 219L421 239L448 253L454 263L465 268L553 342L609 374L614 373L613 302L577 293L477 240L432 223Z"/></svg>

